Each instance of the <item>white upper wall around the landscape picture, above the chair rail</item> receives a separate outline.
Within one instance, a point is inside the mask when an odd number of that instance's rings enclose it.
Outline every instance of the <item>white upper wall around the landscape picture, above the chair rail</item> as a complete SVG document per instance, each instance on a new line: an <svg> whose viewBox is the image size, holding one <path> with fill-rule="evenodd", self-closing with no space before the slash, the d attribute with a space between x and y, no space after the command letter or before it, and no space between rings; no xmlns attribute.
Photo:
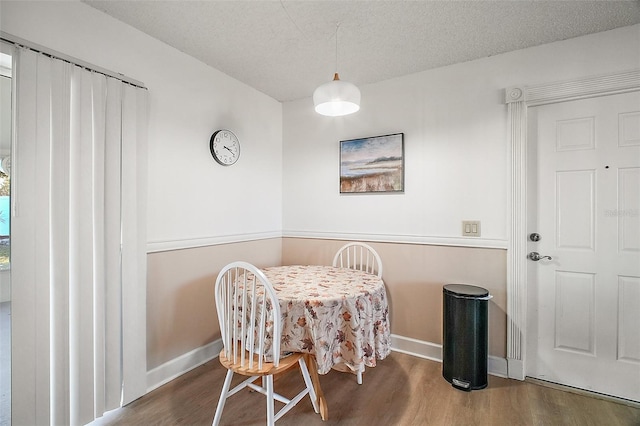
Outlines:
<svg viewBox="0 0 640 426"><path fill-rule="evenodd" d="M284 234L506 247L504 89L640 68L640 26L362 86L362 108L284 105ZM342 70L348 80L348 70ZM403 195L340 195L339 141L403 132ZM365 214L361 214L361 213ZM460 238L480 220L480 239Z"/></svg>

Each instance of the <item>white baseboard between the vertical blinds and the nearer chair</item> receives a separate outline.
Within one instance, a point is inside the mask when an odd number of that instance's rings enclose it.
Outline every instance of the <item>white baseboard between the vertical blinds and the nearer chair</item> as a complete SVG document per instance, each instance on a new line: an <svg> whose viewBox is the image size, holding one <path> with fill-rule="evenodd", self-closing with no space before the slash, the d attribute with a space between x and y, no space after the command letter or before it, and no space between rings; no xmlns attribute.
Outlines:
<svg viewBox="0 0 640 426"><path fill-rule="evenodd" d="M221 350L222 340L218 339L149 370L147 372L147 393L205 362L211 361L218 356Z"/></svg>

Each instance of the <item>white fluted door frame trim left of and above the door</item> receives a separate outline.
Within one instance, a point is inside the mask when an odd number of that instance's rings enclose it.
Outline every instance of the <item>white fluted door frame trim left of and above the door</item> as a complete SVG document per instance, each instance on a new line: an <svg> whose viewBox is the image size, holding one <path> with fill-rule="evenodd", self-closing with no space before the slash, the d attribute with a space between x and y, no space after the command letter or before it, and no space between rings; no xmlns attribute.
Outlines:
<svg viewBox="0 0 640 426"><path fill-rule="evenodd" d="M524 380L527 343L527 109L640 90L640 69L505 89L509 124L507 248L507 376Z"/></svg>

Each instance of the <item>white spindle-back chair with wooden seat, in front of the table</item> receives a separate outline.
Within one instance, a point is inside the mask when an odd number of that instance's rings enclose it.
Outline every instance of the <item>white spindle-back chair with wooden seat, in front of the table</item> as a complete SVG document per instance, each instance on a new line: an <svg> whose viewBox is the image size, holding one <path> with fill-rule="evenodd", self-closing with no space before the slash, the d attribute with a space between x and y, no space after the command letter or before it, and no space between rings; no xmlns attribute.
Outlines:
<svg viewBox="0 0 640 426"><path fill-rule="evenodd" d="M246 387L267 397L268 425L273 425L307 394L311 398L313 409L318 413L316 393L303 354L293 353L286 357L280 354L280 304L273 286L264 273L250 263L230 263L218 274L215 298L224 346L220 352L220 363L227 368L227 376L222 386L213 425L220 423L227 398ZM268 309L264 309L265 307ZM267 353L273 354L271 362L265 360ZM289 399L274 392L273 376L288 370L296 363L300 367L306 386L295 397ZM248 378L229 390L234 373ZM261 384L254 383L259 379L262 379ZM285 404L277 413L274 413L274 400Z"/></svg>

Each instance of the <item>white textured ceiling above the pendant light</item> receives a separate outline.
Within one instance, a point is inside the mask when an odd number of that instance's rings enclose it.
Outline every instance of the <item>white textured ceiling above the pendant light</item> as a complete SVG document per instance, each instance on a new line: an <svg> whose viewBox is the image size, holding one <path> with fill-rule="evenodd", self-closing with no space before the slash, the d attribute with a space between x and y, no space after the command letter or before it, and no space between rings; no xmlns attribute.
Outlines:
<svg viewBox="0 0 640 426"><path fill-rule="evenodd" d="M640 22L638 1L82 0L279 100ZM594 59L597 60L597 59Z"/></svg>

